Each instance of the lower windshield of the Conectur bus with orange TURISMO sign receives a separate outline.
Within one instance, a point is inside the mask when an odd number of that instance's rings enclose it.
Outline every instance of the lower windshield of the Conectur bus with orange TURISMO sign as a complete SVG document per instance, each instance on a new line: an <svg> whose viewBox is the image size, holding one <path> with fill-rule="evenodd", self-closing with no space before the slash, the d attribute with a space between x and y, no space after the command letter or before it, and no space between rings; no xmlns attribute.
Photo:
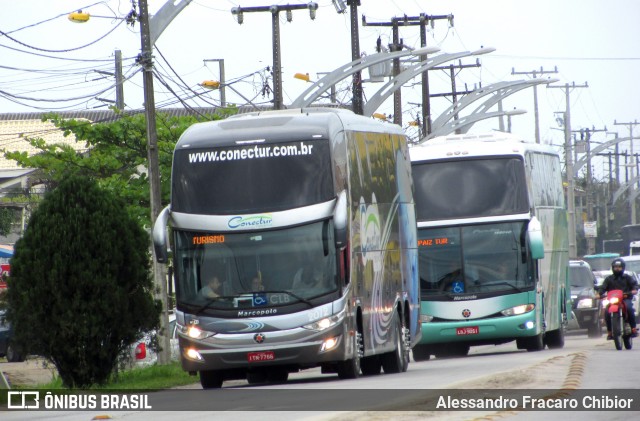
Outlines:
<svg viewBox="0 0 640 421"><path fill-rule="evenodd" d="M337 290L333 223L260 233L176 231L178 307L281 306Z"/></svg>

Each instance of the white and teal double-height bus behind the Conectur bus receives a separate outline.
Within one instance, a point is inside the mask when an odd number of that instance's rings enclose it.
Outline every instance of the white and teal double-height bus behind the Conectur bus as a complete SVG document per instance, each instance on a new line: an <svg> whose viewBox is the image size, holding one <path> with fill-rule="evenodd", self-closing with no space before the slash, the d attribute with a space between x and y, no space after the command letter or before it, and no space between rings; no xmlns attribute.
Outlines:
<svg viewBox="0 0 640 421"><path fill-rule="evenodd" d="M418 220L422 340L417 361L515 340L564 346L568 225L550 146L493 133L410 149Z"/></svg>

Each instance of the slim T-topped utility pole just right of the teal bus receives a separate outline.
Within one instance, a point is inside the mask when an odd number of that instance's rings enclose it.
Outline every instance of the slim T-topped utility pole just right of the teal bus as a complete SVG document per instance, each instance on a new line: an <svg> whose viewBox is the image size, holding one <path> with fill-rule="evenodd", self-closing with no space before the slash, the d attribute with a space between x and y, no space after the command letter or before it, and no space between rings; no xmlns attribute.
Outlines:
<svg viewBox="0 0 640 421"><path fill-rule="evenodd" d="M565 91L565 107L564 112L564 154L566 161L566 173L567 173L567 212L569 213L569 258L578 257L578 248L576 240L576 197L575 197L575 178L573 176L573 153L571 145L571 97L570 88L588 88L587 83L584 85L576 85L573 82L571 85L565 83L564 86L552 86L548 85L549 89L564 89Z"/></svg>

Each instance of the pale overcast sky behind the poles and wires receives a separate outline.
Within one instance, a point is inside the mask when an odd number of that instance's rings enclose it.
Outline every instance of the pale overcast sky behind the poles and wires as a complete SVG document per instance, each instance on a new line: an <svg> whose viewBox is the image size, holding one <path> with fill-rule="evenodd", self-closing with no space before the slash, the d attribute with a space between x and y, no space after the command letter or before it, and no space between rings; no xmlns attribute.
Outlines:
<svg viewBox="0 0 640 421"><path fill-rule="evenodd" d="M93 109L105 104L93 99L95 96L115 99L111 88L113 78L94 71L113 71L115 49L122 50L125 75L138 69L133 58L140 51L139 25L132 28L115 19L130 11L130 1L2 1L0 31L7 36L0 34L0 113ZM166 1L149 0L151 14ZM271 15L245 13L244 23L239 25L230 10L235 6L305 3L193 0L156 43L155 64L167 84L155 81L158 106L180 106L176 97L185 100L195 93L201 95L199 99L189 100L189 105L217 104L220 98L217 91L202 95L203 90L198 86L203 80L220 78L217 62L206 61L210 59L224 59L227 81L234 83L233 87L245 98L255 103L268 102L272 97L263 97L262 88L265 82L271 82L265 79L268 75L265 69L272 65L273 55ZM308 72L313 80L318 78L318 73L351 61L348 13L337 14L331 0L317 3L319 8L313 21L306 10L294 11L290 23L284 13L280 15L285 104L309 86L293 78L296 72ZM76 9L90 12L93 15L90 22L69 22L67 14ZM446 20L437 20L434 27L429 28L428 45L438 46L445 53L482 46L496 49L480 57L481 67L459 71L456 78L459 90L529 78L512 75L513 68L517 72L557 68L557 74L544 77L558 78L555 85L575 82L589 86L571 90L573 129L600 130L606 126L609 131L628 136L628 127L614 126L614 120L620 123L640 119L640 83L637 81L640 2L637 0L362 0L358 12L365 15L368 22L389 22L404 14L452 14L453 26ZM359 31L363 54L375 53L378 37L384 45L391 42L391 28L360 26ZM417 26L400 28L400 37L409 47L420 46ZM466 58L462 63L473 64L475 60ZM444 71L431 71L430 80L432 93L451 90L448 73ZM403 104L405 125L419 112L417 106L411 104L420 101L417 82L419 79L414 79L402 91L406 101ZM366 98L381 86L365 84ZM338 100L348 102L348 84L339 85L338 89ZM125 84L124 96L127 109L142 108L140 73ZM560 144L563 135L558 130L554 112L565 110L564 89L547 89L543 85L538 88L538 100L542 141ZM230 91L227 91L227 101L246 102ZM434 118L449 105L446 98L432 99ZM528 111L512 118L512 130L533 138L532 89L509 97L504 108ZM392 103L385 103L379 111L392 113ZM498 121L493 119L478 124L471 132L497 128ZM640 127L636 126L635 135L640 136ZM603 141L605 138L604 133L597 133L593 139ZM636 150L640 151L640 147Z"/></svg>

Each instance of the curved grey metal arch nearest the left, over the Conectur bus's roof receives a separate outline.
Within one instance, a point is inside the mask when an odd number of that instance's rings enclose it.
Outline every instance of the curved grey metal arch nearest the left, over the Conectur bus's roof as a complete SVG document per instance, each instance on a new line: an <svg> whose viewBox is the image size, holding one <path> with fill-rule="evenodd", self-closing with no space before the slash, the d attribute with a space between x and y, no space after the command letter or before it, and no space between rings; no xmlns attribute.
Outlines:
<svg viewBox="0 0 640 421"><path fill-rule="evenodd" d="M289 106L289 108L304 108L308 107L320 97L323 93L329 90L332 86L337 84L343 79L346 79L353 74L373 66L374 64L382 63L388 60L406 56L421 56L425 54L431 54L440 51L437 47L425 47L418 48L411 51L396 51L393 53L376 53L370 56L364 56L357 60L353 60L341 67L338 67L334 71L328 73L320 80L311 85L307 90L301 93Z"/></svg>

